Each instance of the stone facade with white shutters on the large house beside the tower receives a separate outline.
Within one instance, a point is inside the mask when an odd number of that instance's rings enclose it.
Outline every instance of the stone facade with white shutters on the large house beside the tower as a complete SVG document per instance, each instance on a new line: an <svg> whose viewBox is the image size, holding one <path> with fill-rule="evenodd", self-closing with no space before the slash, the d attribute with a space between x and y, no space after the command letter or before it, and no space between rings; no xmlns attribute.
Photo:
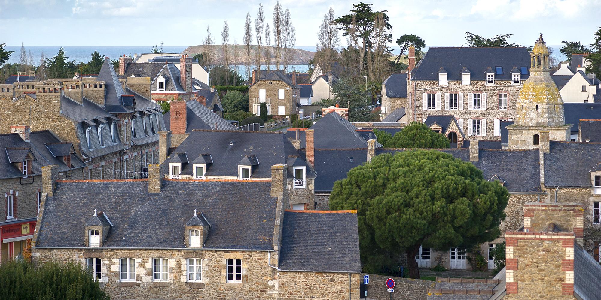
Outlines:
<svg viewBox="0 0 601 300"><path fill-rule="evenodd" d="M471 136L477 140L500 140L494 136L494 119L514 119L516 100L522 85L511 85L510 80L495 80L495 85L486 85L484 80L472 80L470 85L462 85L460 80L448 81L447 86L439 86L438 81L413 81L415 83L415 120L421 122L429 115L454 115L457 120L463 119L463 133L468 136L468 119L486 119L486 136ZM469 110L469 93L486 93L486 110ZM507 109L499 109L499 93L507 94ZM422 94L441 93L441 110L423 110ZM463 93L463 110L445 110L445 93ZM411 114L412 112L407 112ZM413 116L409 118L413 121Z"/></svg>

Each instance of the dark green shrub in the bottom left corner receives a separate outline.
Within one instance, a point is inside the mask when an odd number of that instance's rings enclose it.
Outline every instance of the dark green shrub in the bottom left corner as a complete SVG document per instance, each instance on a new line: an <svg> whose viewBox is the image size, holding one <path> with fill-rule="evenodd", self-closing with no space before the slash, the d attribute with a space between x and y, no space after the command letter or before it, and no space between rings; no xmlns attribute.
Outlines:
<svg viewBox="0 0 601 300"><path fill-rule="evenodd" d="M98 281L73 263L43 263L10 260L0 265L2 300L110 300Z"/></svg>

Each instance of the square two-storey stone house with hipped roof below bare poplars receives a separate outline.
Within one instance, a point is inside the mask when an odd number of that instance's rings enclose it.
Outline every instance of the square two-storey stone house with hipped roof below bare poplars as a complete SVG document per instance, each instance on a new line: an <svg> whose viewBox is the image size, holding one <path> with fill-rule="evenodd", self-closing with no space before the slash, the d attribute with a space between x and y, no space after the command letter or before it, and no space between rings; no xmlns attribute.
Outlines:
<svg viewBox="0 0 601 300"><path fill-rule="evenodd" d="M267 115L296 114L301 107L300 97L301 86L296 84L296 73L292 73L292 79L281 71L272 71L257 78L257 71L252 71L248 107L255 115L260 115L261 103L267 104Z"/></svg>

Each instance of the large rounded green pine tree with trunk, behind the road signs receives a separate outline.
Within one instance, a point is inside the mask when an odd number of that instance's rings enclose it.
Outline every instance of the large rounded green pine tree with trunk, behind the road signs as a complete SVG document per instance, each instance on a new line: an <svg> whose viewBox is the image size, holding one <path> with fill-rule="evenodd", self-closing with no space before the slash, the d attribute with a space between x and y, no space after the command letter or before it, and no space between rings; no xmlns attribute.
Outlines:
<svg viewBox="0 0 601 300"><path fill-rule="evenodd" d="M380 154L334 183L330 209L357 209L364 272L382 273L382 257L406 253L419 278L420 245L470 248L500 235L509 193L474 164L437 150Z"/></svg>

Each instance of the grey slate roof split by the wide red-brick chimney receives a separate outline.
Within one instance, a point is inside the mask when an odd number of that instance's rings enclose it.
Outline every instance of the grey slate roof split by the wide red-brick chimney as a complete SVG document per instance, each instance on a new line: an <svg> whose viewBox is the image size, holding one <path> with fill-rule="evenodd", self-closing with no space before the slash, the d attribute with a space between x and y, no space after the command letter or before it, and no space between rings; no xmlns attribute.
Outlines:
<svg viewBox="0 0 601 300"><path fill-rule="evenodd" d="M171 112L166 112L163 120L166 129L171 130ZM186 133L195 129L215 129L215 123L219 130L236 130L234 125L196 100L186 101L186 122Z"/></svg>

